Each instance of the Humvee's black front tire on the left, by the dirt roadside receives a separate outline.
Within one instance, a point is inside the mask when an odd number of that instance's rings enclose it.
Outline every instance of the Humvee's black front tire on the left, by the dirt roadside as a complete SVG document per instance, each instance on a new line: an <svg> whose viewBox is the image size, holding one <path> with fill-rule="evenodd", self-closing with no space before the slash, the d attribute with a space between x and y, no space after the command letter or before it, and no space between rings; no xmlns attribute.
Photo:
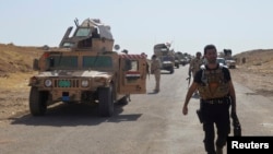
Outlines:
<svg viewBox="0 0 273 154"><path fill-rule="evenodd" d="M47 110L47 92L39 92L37 87L31 88L29 110L33 116L44 116Z"/></svg>

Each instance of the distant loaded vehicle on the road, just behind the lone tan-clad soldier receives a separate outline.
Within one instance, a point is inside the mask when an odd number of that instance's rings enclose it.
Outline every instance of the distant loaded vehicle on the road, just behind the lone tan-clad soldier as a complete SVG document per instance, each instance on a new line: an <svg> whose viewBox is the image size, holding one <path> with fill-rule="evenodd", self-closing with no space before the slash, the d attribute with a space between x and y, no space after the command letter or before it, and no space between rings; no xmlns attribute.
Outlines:
<svg viewBox="0 0 273 154"><path fill-rule="evenodd" d="M175 72L175 54L169 49L167 44L156 44L154 45L154 55L161 61L161 70L167 70L170 74Z"/></svg>

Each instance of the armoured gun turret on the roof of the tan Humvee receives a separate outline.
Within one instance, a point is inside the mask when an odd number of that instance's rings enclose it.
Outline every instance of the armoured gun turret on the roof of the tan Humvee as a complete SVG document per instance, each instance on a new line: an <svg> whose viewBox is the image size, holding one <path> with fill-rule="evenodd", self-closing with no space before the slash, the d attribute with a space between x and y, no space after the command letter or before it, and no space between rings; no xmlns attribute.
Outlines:
<svg viewBox="0 0 273 154"><path fill-rule="evenodd" d="M98 19L86 19L82 24L79 24L78 19L75 19L74 23L76 29L70 37L73 26L68 27L59 44L60 48L95 51L112 50L114 38L109 25L103 24Z"/></svg>

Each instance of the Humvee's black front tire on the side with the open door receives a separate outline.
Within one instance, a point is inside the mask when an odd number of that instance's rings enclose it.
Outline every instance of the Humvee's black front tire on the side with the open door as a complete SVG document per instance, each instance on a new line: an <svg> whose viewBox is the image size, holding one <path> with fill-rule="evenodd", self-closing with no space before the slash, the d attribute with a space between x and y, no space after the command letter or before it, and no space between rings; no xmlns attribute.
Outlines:
<svg viewBox="0 0 273 154"><path fill-rule="evenodd" d="M98 111L102 117L111 117L114 114L112 86L98 88Z"/></svg>

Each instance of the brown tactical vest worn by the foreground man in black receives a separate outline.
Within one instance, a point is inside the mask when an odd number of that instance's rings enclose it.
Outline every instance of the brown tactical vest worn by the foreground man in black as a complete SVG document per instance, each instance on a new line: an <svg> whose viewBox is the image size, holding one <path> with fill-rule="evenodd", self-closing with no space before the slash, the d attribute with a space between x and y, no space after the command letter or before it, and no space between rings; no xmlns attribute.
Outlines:
<svg viewBox="0 0 273 154"><path fill-rule="evenodd" d="M202 66L201 69L202 83L198 84L200 97L202 99L213 99L227 96L229 86L224 78L223 66L219 64L216 70L207 70L205 66Z"/></svg>

